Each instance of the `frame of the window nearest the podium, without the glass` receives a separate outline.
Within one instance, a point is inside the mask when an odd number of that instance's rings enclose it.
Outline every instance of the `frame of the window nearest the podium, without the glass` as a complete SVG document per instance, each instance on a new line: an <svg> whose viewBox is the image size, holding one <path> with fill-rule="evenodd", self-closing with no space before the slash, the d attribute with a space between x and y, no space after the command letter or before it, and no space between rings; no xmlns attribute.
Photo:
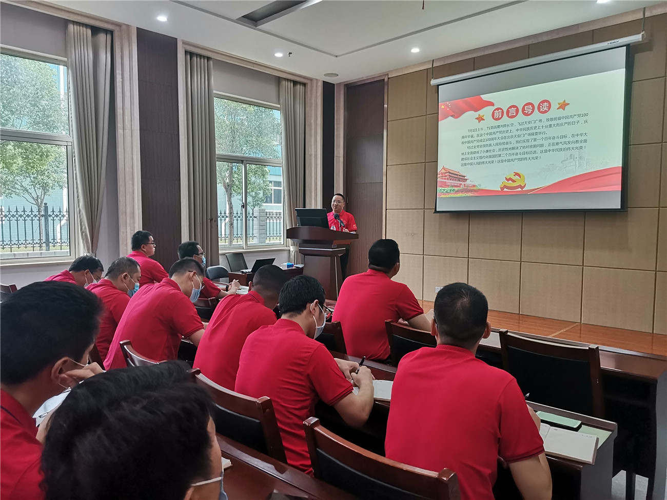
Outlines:
<svg viewBox="0 0 667 500"><path fill-rule="evenodd" d="M280 106L275 105L272 103L266 103L264 101L257 101L255 99L247 99L246 97L239 97L237 95L232 95L232 94L227 94L224 92L219 92L219 91L214 91L213 92L213 99L225 99L226 101L235 101L237 103L243 103L251 106L259 106L259 107L266 107L269 109L276 109L277 111L280 111ZM281 129L282 129L282 115L281 115ZM242 185L243 185L243 195L241 199L241 213L242 213L242 222L243 222L243 245L242 246L233 246L233 245L222 245L222 243L219 242L218 239L218 247L219 247L219 253L222 255L223 253L228 253L229 251L234 251L234 250L243 250L243 251L251 251L251 250L262 250L262 249L276 249L276 248L287 248L289 245L287 245L287 228L285 227L285 196L283 193L282 197L282 211L283 211L283 231L282 231L282 236L283 236L283 241L282 243L256 243L256 244L248 244L247 241L247 235L248 235L248 210L247 210L247 165L265 165L267 167L280 167L281 169L281 174L283 172L283 159L282 159L282 145L281 145L281 157L280 158L260 158L256 156L247 156L247 155L234 155L231 153L218 153L215 151L215 164L216 164L216 169L217 169L217 162L222 161L225 163L236 163L237 165L241 165L241 178L242 178ZM284 175L281 175L281 182L285 183L285 177ZM216 193L217 193L217 183L216 183ZM273 195L273 188L271 188L271 195ZM220 211L218 207L218 213ZM219 238L219 235L218 235Z"/></svg>

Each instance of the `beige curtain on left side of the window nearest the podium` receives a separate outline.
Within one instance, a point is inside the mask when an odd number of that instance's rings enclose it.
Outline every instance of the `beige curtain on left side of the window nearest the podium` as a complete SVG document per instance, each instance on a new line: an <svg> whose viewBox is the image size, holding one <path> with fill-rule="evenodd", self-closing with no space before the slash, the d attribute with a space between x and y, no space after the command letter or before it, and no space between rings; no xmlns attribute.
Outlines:
<svg viewBox="0 0 667 500"><path fill-rule="evenodd" d="M191 52L185 53L185 123L189 238L199 242L208 265L218 265L213 59Z"/></svg>

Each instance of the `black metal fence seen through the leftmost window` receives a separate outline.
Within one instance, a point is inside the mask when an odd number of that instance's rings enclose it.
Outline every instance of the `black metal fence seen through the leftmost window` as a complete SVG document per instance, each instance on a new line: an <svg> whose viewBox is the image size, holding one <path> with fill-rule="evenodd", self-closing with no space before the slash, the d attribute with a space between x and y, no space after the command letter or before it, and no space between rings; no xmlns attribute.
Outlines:
<svg viewBox="0 0 667 500"><path fill-rule="evenodd" d="M69 211L44 203L37 207L0 206L0 251L69 250Z"/></svg>

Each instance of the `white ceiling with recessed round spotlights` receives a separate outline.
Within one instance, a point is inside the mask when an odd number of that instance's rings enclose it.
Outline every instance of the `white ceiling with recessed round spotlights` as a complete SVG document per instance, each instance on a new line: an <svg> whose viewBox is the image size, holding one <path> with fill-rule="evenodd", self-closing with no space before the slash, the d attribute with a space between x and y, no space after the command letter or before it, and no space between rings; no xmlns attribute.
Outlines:
<svg viewBox="0 0 667 500"><path fill-rule="evenodd" d="M237 18L266 0L54 3L337 83L664 2L427 0L422 9L420 0L323 0L259 27Z"/></svg>

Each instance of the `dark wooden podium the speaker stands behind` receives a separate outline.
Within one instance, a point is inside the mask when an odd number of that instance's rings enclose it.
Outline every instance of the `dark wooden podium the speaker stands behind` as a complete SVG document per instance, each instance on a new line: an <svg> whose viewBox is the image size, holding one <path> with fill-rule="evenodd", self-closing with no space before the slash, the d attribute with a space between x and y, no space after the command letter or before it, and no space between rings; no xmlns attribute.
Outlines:
<svg viewBox="0 0 667 500"><path fill-rule="evenodd" d="M321 283L327 299L338 300L343 284L340 256L346 251L344 245L359 239L359 235L332 231L327 227L296 226L287 229L287 238L299 244L299 253L303 255L303 274Z"/></svg>

